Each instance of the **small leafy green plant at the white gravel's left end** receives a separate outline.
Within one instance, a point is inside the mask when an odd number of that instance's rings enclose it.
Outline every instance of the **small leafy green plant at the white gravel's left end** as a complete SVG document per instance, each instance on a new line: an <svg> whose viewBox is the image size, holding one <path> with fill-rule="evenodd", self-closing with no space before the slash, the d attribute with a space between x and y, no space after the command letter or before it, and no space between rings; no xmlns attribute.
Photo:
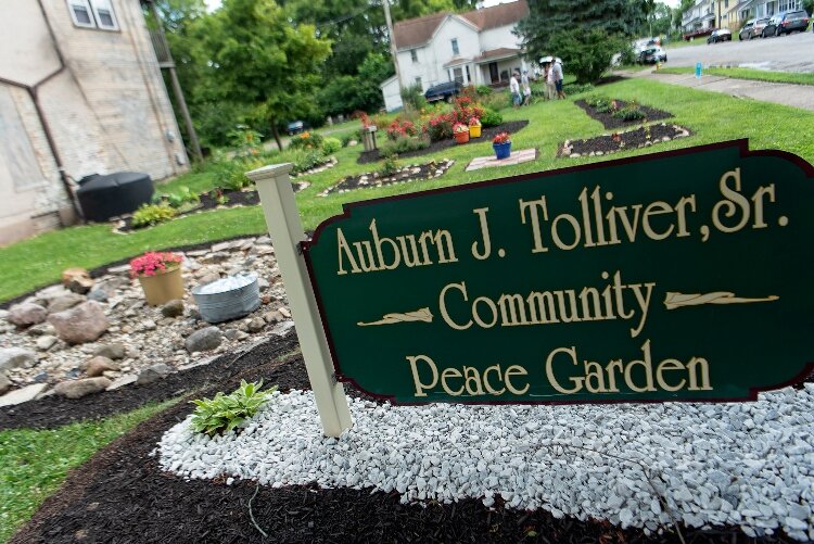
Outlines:
<svg viewBox="0 0 814 544"><path fill-rule="evenodd" d="M241 380L240 387L228 395L218 392L213 398L190 401L196 406L192 414L192 430L209 437L231 431L257 414L271 393L277 391L277 385L266 391L260 391L262 387L263 380L257 383Z"/></svg>

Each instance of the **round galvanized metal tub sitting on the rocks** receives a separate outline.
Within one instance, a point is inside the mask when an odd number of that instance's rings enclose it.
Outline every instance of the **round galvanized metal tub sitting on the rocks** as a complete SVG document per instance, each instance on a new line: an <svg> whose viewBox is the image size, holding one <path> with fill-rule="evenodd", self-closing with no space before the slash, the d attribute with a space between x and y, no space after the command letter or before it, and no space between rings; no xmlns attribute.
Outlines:
<svg viewBox="0 0 814 544"><path fill-rule="evenodd" d="M207 322L220 322L243 317L260 305L257 276L239 274L192 289L201 317Z"/></svg>

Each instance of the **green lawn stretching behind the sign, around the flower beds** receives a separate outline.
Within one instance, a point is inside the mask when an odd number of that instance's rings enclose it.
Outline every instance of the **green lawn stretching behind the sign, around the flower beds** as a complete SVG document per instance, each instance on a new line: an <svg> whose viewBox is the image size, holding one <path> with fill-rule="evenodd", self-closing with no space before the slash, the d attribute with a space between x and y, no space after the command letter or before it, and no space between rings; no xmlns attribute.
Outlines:
<svg viewBox="0 0 814 544"><path fill-rule="evenodd" d="M692 138L674 140L647 150L616 153L613 159L749 138L753 149L780 149L814 163L814 138L805 136L811 134L814 113L643 79L628 79L602 86L599 91L613 98L636 100L646 105L666 109L675 114L677 124L687 126L696 132ZM598 122L585 115L572 100L538 102L530 107L507 109L503 113L506 121L527 118L531 122L513 137L513 149L537 148L537 161L499 169L486 168L466 173L463 168L472 159L492 154L488 141L469 143L433 155L399 161L410 164L431 159L455 160L455 166L440 178L331 194L327 198L317 197L344 176L372 172L380 167L380 164L356 164L361 146L344 148L336 153L339 164L335 167L307 176L311 187L296 194L305 228L313 229L323 219L339 214L342 204L346 202L603 160L555 157L558 146L565 139L587 138L606 132ZM761 123L745 123L747 119L755 118L760 118ZM171 187L187 185L194 186L195 190L207 190L213 184L214 175L204 170L179 177L171 182ZM246 207L195 214L126 236L112 233L110 227L101 225L48 232L0 249L0 301L55 282L61 271L69 266L92 268L147 250L251 236L265 230L259 207Z"/></svg>

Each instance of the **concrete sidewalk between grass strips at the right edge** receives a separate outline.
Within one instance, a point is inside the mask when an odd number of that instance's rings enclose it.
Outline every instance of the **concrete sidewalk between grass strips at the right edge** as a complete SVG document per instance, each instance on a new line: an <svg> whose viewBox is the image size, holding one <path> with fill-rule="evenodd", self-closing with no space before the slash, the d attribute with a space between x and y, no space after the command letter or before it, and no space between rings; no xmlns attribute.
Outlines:
<svg viewBox="0 0 814 544"><path fill-rule="evenodd" d="M692 74L662 74L658 71L624 72L623 75L814 111L814 85L773 84L722 76L701 76L698 79Z"/></svg>

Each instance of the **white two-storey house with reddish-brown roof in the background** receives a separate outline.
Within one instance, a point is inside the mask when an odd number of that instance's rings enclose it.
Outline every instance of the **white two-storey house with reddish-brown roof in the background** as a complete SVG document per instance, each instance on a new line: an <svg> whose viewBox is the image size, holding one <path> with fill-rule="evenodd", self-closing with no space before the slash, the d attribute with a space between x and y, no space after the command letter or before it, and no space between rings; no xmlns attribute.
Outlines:
<svg viewBox="0 0 814 544"><path fill-rule="evenodd" d="M512 34L529 15L526 0L462 14L435 13L400 21L393 27L402 80L381 84L387 111L402 106L399 87L422 90L457 80L463 85L500 85L511 71L526 68L521 39ZM399 86L400 83L400 86Z"/></svg>

